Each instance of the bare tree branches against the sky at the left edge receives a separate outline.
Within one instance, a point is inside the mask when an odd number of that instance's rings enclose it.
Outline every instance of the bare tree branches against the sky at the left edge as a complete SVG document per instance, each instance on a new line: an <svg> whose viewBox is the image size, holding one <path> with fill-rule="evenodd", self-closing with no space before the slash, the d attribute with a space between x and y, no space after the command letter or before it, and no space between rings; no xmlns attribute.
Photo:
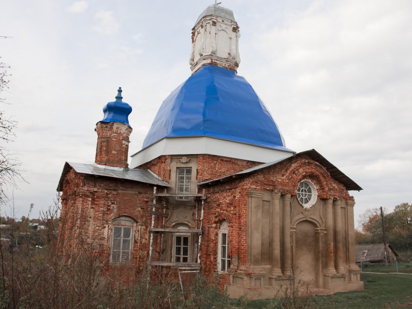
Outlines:
<svg viewBox="0 0 412 309"><path fill-rule="evenodd" d="M0 38L7 38L0 36ZM1 57L0 57L1 59ZM0 62L0 103L7 104L6 98L3 97L3 91L8 89L10 74L7 73L5 63ZM19 170L21 162L16 158L15 154L11 154L7 149L6 144L13 141L16 137L15 129L17 126L16 120L7 116L0 108L0 204L8 201L6 190L8 187L16 187L16 180L23 179Z"/></svg>

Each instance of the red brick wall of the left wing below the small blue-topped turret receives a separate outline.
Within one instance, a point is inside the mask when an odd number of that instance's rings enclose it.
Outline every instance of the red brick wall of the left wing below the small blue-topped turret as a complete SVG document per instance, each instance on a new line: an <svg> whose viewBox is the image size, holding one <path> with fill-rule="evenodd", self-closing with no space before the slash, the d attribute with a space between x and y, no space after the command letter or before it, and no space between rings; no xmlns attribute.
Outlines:
<svg viewBox="0 0 412 309"><path fill-rule="evenodd" d="M147 204L152 202L152 194L153 185L71 170L63 184L59 234L62 246L69 251L86 247L108 265L112 220L128 216L136 222L132 261L143 263L149 252L151 215L147 213Z"/></svg>

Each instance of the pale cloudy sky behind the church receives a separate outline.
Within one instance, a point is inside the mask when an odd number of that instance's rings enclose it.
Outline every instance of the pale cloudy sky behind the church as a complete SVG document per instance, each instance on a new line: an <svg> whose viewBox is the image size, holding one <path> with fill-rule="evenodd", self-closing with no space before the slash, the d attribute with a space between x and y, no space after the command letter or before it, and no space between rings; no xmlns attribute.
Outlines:
<svg viewBox="0 0 412 309"><path fill-rule="evenodd" d="M94 163L95 124L119 86L133 112L129 154L190 76L190 34L213 0L0 0L0 108L26 182L16 217L52 204L65 161ZM371 207L412 202L412 1L223 0L240 27L245 77L297 152L316 149ZM10 207L1 213L10 215Z"/></svg>

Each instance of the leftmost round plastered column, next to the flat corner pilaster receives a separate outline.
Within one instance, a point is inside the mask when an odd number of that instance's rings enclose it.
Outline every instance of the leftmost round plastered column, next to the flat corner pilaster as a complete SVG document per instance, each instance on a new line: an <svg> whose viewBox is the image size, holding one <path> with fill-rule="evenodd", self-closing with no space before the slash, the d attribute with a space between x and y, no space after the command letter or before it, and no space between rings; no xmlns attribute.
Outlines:
<svg viewBox="0 0 412 309"><path fill-rule="evenodd" d="M270 218L270 235L272 239L271 243L271 265L272 272L270 276L272 277L282 277L281 264L280 264L280 224L279 224L279 199L280 193L272 193L272 207L271 207L271 218Z"/></svg>

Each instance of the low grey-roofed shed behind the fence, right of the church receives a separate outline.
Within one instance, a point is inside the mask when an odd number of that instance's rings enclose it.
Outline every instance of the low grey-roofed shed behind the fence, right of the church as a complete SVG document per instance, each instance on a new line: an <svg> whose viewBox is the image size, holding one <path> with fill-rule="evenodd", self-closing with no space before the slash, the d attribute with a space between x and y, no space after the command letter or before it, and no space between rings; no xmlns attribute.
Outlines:
<svg viewBox="0 0 412 309"><path fill-rule="evenodd" d="M388 263L396 263L397 254L391 245L386 244ZM385 247L383 244L356 245L356 263L385 263Z"/></svg>

